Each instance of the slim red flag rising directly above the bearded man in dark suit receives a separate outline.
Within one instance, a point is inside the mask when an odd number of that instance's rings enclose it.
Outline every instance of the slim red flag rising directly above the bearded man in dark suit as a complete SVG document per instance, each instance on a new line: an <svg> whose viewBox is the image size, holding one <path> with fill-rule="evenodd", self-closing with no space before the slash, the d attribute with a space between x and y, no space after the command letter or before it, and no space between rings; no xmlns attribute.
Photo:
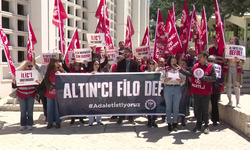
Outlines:
<svg viewBox="0 0 250 150"><path fill-rule="evenodd" d="M125 47L129 47L132 50L132 36L134 35L134 28L132 25L132 21L130 19L130 17L128 16L127 18L127 28L126 28L126 38L125 38ZM133 58L133 50L131 53L131 58Z"/></svg>

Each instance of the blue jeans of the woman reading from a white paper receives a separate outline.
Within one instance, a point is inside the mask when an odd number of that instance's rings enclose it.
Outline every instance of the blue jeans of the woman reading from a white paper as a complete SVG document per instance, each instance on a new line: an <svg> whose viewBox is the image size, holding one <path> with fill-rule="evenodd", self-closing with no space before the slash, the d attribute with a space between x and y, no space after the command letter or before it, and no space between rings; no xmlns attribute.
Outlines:
<svg viewBox="0 0 250 150"><path fill-rule="evenodd" d="M174 123L178 121L179 104L181 100L181 86L165 86L164 98L166 102L167 122L171 123L171 112L173 111Z"/></svg>

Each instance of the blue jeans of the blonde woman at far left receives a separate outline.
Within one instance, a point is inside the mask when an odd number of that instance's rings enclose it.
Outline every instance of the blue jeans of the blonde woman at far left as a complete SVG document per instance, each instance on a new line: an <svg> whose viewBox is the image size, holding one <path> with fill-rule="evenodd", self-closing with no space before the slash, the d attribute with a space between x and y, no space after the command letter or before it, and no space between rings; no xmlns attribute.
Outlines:
<svg viewBox="0 0 250 150"><path fill-rule="evenodd" d="M21 110L21 126L32 126L33 125L33 108L34 108L34 97L26 97L21 99L18 97Z"/></svg>

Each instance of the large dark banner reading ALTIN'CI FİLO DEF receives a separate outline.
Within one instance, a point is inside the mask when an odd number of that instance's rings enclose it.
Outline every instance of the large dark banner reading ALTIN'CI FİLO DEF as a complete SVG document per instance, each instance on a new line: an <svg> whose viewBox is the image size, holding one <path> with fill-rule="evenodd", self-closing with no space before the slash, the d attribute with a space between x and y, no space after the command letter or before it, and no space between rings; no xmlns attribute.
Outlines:
<svg viewBox="0 0 250 150"><path fill-rule="evenodd" d="M60 118L164 115L160 73L56 75Z"/></svg>

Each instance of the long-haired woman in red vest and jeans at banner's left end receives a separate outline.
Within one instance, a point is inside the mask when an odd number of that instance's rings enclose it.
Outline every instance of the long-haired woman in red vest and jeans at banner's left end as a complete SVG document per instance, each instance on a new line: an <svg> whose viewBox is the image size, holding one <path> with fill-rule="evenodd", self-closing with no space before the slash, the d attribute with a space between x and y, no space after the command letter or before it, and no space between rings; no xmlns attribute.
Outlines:
<svg viewBox="0 0 250 150"><path fill-rule="evenodd" d="M50 129L54 122L56 123L56 128L61 127L55 89L56 74L60 72L62 72L62 68L59 64L59 60L52 58L48 64L47 72L44 78L46 86L45 97L47 97L47 129Z"/></svg>

